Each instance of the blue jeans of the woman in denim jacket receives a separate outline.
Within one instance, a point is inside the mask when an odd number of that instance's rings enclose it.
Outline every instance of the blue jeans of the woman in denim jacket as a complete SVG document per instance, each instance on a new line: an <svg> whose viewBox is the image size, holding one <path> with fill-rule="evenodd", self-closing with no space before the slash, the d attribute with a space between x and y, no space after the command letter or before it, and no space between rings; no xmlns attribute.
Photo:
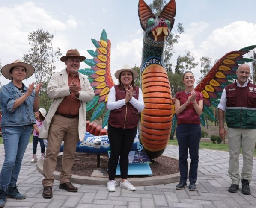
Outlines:
<svg viewBox="0 0 256 208"><path fill-rule="evenodd" d="M2 127L5 158L0 175L0 190L6 191L8 185L16 185L31 130L31 125Z"/></svg>

